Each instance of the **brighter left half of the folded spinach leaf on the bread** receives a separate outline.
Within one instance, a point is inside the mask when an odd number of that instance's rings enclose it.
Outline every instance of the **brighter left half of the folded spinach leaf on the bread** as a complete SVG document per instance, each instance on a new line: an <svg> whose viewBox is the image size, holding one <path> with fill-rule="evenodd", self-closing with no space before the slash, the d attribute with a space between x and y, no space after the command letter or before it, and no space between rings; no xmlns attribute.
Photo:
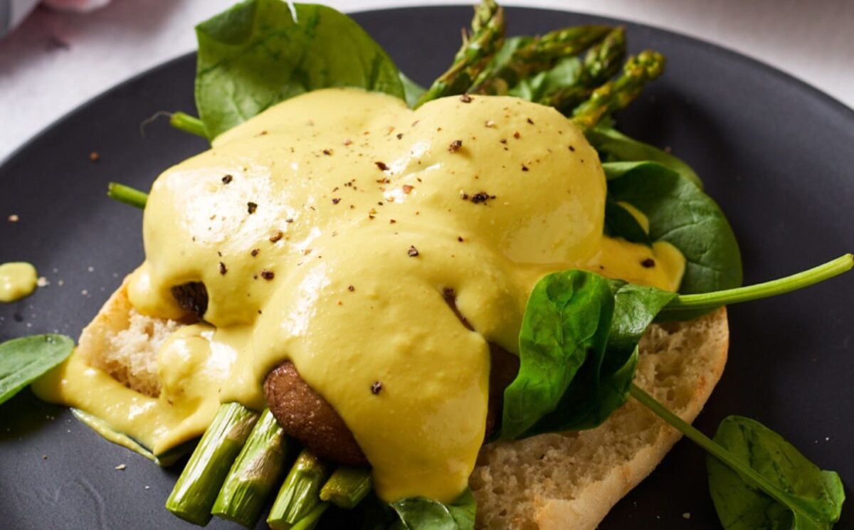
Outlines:
<svg viewBox="0 0 854 530"><path fill-rule="evenodd" d="M613 312L611 286L594 273L555 272L536 283L519 331L519 373L504 391L502 439L561 430L549 414L569 405L564 393L582 364L604 354Z"/></svg>

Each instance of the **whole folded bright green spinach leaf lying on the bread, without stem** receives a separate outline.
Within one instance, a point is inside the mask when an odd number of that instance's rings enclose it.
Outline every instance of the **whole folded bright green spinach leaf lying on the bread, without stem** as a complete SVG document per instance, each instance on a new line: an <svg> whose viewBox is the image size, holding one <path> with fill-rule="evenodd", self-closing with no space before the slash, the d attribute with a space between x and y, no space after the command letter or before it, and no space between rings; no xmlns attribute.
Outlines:
<svg viewBox="0 0 854 530"><path fill-rule="evenodd" d="M628 399L641 335L675 298L588 271L543 277L525 308L501 438L604 422Z"/></svg>

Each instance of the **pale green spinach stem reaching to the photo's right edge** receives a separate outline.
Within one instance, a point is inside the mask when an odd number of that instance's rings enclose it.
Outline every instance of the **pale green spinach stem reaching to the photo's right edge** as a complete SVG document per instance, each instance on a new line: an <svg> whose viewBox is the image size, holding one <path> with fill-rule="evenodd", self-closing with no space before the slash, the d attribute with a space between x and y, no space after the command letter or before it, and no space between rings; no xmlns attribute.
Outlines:
<svg viewBox="0 0 854 530"><path fill-rule="evenodd" d="M786 294L850 271L852 266L854 266L854 256L848 253L839 256L837 259L832 259L823 265L798 272L792 276L771 280L770 282L715 291L713 293L680 294L667 305L666 311L712 309L738 302L769 298L777 294Z"/></svg>

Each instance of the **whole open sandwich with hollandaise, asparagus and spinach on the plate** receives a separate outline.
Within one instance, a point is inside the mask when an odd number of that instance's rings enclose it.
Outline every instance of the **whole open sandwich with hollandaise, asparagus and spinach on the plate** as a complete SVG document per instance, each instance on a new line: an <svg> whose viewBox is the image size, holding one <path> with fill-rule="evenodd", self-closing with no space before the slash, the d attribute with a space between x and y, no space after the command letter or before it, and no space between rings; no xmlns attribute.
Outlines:
<svg viewBox="0 0 854 530"><path fill-rule="evenodd" d="M740 288L697 175L613 126L661 55L619 73L603 26L505 41L484 2L423 90L331 9L250 1L197 29L200 119L173 122L212 149L148 195L111 189L145 208L145 262L34 386L160 463L203 434L169 510L252 526L281 484L273 528L333 504L381 527L595 527L675 442L656 416L781 513L808 493L687 422L722 374L721 306L851 256ZM839 477L799 465L834 521Z"/></svg>

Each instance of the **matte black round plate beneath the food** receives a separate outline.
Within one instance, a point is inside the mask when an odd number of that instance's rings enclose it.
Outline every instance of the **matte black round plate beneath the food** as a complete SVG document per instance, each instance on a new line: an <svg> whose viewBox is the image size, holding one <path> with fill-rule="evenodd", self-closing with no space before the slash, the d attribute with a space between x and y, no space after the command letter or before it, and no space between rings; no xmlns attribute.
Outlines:
<svg viewBox="0 0 854 530"><path fill-rule="evenodd" d="M432 7L354 18L402 70L427 83L447 66L470 16L468 8ZM507 9L507 20L509 34L603 21L535 9ZM705 179L739 236L746 282L851 250L850 109L727 50L625 26L631 48L664 52L668 71L619 116L620 124L632 136L671 147ZM0 167L0 263L30 261L50 280L26 300L0 306L0 341L55 330L76 337L143 259L141 214L109 201L104 190L110 180L148 189L167 166L206 147L164 120L140 135L140 123L156 111L194 108L194 62L187 55L120 84ZM97 162L89 159L92 151L101 155ZM6 220L13 213L20 216L16 224ZM850 485L852 302L854 277L845 277L731 308L729 364L699 428L713 434L725 416L751 416ZM704 458L681 441L602 528L718 528ZM114 469L120 464L126 469ZM190 528L163 508L176 473L109 444L29 392L0 407L0 527ZM851 510L838 528L854 528ZM222 521L210 526L236 528Z"/></svg>

